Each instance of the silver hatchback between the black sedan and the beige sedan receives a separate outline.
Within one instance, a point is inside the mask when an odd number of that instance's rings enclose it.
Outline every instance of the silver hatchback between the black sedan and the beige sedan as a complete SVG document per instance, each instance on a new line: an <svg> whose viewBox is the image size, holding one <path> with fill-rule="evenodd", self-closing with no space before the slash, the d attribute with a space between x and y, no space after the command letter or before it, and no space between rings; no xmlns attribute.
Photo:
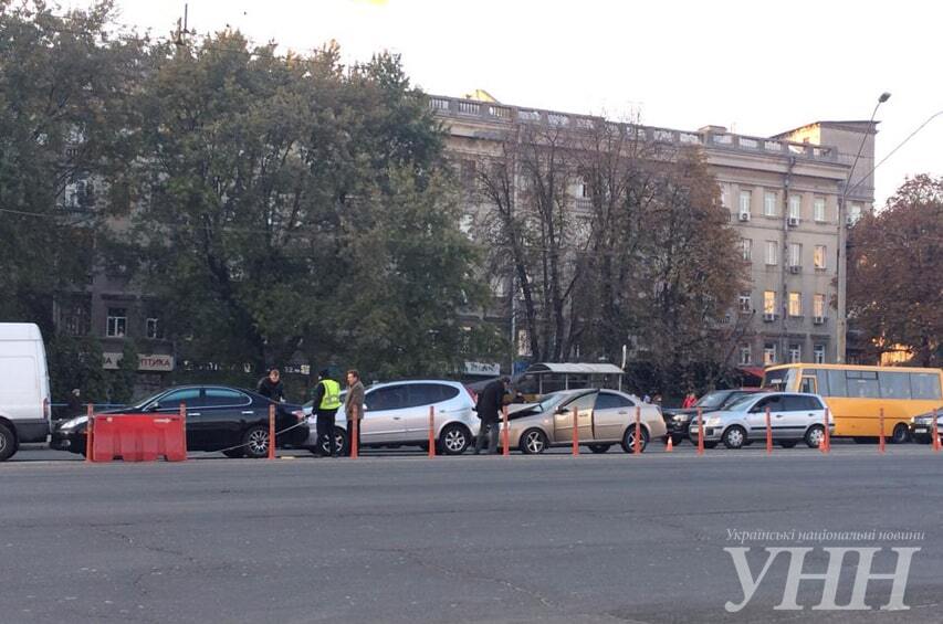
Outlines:
<svg viewBox="0 0 943 624"><path fill-rule="evenodd" d="M346 392L344 393L346 395ZM312 404L304 405L306 415ZM416 380L377 383L366 389L360 421L360 447L422 446L429 444L429 408L436 410L438 451L461 455L478 435L479 420L468 389L455 381ZM329 440L317 440L314 419L306 446L317 453L328 451ZM340 454L350 451L347 415L342 405L334 419L336 445Z"/></svg>

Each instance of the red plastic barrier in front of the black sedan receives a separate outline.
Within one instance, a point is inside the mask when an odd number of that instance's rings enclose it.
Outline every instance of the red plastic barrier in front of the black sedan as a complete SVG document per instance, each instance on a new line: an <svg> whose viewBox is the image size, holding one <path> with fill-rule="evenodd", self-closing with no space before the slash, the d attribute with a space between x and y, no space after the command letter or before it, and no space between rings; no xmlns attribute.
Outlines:
<svg viewBox="0 0 943 624"><path fill-rule="evenodd" d="M168 462L187 458L186 423L179 414L98 414L92 421L92 461Z"/></svg>

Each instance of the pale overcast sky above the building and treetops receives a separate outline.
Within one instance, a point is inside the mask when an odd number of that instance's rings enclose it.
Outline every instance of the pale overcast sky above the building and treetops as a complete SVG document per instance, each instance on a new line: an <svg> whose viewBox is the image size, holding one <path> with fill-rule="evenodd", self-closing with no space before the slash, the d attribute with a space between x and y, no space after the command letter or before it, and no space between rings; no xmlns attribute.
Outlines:
<svg viewBox="0 0 943 624"><path fill-rule="evenodd" d="M119 21L165 35L184 0L116 0ZM868 119L882 92L877 160L943 113L943 3L794 0L190 0L198 33L227 27L346 62L402 55L428 93L476 88L505 104L679 129L769 136ZM70 3L66 2L66 6ZM73 1L72 6L87 6ZM877 204L907 176L943 176L943 114L880 165Z"/></svg>

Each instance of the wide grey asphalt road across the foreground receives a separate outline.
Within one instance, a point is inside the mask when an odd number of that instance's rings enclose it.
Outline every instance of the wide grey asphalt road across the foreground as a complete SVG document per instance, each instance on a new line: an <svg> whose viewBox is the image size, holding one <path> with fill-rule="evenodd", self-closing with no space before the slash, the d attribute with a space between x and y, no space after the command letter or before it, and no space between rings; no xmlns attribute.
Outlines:
<svg viewBox="0 0 943 624"><path fill-rule="evenodd" d="M940 622L943 453L928 446L640 457L440 457L0 465L3 622ZM65 456L67 457L67 455ZM902 612L777 611L774 560L743 611L730 531L912 531L764 547L918 547ZM922 535L920 535L922 533ZM821 537L821 536L819 536ZM847 602L857 556L842 568Z"/></svg>

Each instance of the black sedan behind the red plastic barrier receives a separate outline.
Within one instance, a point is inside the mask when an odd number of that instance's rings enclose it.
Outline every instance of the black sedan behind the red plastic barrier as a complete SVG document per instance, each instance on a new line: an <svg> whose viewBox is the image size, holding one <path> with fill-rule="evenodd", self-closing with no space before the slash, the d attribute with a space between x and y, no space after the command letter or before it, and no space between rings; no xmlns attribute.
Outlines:
<svg viewBox="0 0 943 624"><path fill-rule="evenodd" d="M187 451L265 457L269 406L273 404L277 447L300 447L307 441L307 422L300 405L274 403L255 392L226 385L180 385L96 414L176 414L180 403L187 406ZM51 446L84 454L87 421L86 416L78 416L60 424L52 433Z"/></svg>

